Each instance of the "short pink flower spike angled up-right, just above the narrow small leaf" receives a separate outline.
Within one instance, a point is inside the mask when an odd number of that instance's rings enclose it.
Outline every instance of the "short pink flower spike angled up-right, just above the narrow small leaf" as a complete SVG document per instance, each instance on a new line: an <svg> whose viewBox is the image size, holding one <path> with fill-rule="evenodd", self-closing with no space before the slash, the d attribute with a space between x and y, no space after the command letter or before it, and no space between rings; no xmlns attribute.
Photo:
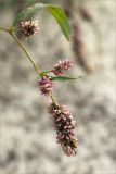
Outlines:
<svg viewBox="0 0 116 174"><path fill-rule="evenodd" d="M65 70L68 70L72 67L72 61L70 60L64 60L64 61L59 61L59 63L56 63L52 70L52 73L54 73L54 75L56 76L61 76L64 74Z"/></svg>

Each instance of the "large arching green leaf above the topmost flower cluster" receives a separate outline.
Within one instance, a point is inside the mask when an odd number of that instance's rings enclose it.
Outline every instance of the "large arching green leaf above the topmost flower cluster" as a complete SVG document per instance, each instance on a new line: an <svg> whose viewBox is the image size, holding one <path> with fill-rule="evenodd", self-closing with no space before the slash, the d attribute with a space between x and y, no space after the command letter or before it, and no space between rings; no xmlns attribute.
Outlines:
<svg viewBox="0 0 116 174"><path fill-rule="evenodd" d="M23 10L21 13L17 14L16 18L13 22L12 27L16 27L16 25L23 21L24 18L33 15L34 13L38 12L41 9L46 9L52 16L55 18L55 21L59 23L63 34L65 35L66 39L69 40L70 38L70 27L68 23L68 18L64 11L52 4L44 4L44 3L35 3L31 7Z"/></svg>

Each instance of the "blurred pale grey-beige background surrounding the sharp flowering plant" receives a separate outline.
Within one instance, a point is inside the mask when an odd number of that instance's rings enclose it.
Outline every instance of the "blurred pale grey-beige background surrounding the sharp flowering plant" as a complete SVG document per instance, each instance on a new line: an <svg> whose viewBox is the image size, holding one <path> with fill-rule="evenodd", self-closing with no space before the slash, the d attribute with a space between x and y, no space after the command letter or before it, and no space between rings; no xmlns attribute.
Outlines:
<svg viewBox="0 0 116 174"><path fill-rule="evenodd" d="M39 1L39 0L38 0ZM0 0L0 26L37 0ZM38 76L12 38L0 32L0 174L116 174L116 2L41 0L61 5L72 27L67 42L54 18L34 15L41 32L24 40L42 70L70 58L73 83L56 83L54 94L77 121L77 156L65 157L55 142Z"/></svg>

